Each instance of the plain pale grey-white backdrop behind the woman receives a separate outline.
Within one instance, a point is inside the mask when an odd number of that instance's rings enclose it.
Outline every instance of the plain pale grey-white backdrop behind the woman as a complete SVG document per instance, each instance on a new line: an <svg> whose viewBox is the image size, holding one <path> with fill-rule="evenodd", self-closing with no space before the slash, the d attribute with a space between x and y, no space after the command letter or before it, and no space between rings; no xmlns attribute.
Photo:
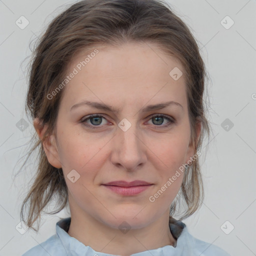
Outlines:
<svg viewBox="0 0 256 256"><path fill-rule="evenodd" d="M33 168L29 170L28 165L15 180L14 175L33 132L32 122L23 111L27 83L21 61L30 55L29 42L64 9L59 6L72 2L0 0L1 256L21 255L55 233L59 216L68 216L65 212L43 216L38 233L20 234L15 226L20 221L21 200ZM256 255L256 94L253 94L256 93L256 1L168 2L199 41L211 78L208 117L214 139L202 163L205 200L200 210L184 222L192 235L220 246L233 256ZM24 29L15 24L21 15L29 21ZM234 21L229 29L220 23L226 15ZM230 24L230 20L224 22ZM16 126L21 118L29 124L24 131ZM234 124L228 131L221 126L226 118ZM220 228L226 220L234 226L229 234Z"/></svg>

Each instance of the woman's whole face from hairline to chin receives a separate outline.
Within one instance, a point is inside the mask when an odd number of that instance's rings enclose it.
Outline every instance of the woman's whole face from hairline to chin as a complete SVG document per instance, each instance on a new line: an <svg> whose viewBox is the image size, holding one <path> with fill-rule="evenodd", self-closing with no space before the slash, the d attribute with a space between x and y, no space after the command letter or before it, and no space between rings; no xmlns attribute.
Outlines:
<svg viewBox="0 0 256 256"><path fill-rule="evenodd" d="M153 44L95 48L84 66L88 53L70 62L67 75L75 74L63 83L56 134L44 149L49 162L63 169L71 214L111 227L124 220L146 226L168 214L183 178L177 170L195 153L185 77L169 74L174 67L184 71ZM149 185L104 185L118 180Z"/></svg>

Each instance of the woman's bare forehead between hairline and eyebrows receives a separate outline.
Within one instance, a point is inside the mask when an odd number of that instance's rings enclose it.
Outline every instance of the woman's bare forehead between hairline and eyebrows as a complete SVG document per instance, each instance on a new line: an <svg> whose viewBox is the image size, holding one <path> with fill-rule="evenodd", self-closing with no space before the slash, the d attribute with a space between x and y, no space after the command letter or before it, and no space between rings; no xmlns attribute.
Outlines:
<svg viewBox="0 0 256 256"><path fill-rule="evenodd" d="M182 75L173 79L173 71ZM64 87L66 106L79 100L104 103L175 100L185 104L185 77L179 60L152 43L95 45L75 54L66 74L75 73ZM175 78L175 76L174 76ZM157 102L158 103L158 102Z"/></svg>

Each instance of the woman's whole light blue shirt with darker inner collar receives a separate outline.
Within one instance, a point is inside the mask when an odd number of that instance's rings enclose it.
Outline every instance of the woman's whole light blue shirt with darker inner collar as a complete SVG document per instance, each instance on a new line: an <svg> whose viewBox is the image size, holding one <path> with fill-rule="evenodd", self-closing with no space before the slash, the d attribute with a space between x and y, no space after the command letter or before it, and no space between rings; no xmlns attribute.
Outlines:
<svg viewBox="0 0 256 256"><path fill-rule="evenodd" d="M117 256L95 251L76 238L71 237L67 231L71 217L63 218L56 223L56 234L46 241L32 247L22 256ZM134 253L130 256L230 256L220 247L201 241L187 231L187 226L172 217L169 218L169 228L176 239L176 245L165 245Z"/></svg>

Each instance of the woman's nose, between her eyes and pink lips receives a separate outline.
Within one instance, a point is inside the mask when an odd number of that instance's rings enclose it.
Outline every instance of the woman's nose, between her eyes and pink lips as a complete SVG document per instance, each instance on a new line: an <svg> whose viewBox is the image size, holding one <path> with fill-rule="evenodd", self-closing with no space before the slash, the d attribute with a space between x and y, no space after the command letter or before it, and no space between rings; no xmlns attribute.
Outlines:
<svg viewBox="0 0 256 256"><path fill-rule="evenodd" d="M147 160L145 141L135 124L126 131L118 127L112 145L111 162L119 168L132 171Z"/></svg>

